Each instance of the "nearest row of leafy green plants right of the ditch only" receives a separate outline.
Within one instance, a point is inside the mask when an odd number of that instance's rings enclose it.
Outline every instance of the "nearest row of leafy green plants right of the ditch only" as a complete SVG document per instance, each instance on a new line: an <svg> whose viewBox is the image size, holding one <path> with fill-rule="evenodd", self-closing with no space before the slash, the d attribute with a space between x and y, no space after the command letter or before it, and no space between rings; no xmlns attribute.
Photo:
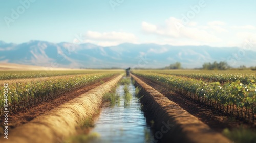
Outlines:
<svg viewBox="0 0 256 143"><path fill-rule="evenodd" d="M248 79L247 84L239 80L221 84L146 71L133 73L224 113L255 122L256 82L253 79Z"/></svg>

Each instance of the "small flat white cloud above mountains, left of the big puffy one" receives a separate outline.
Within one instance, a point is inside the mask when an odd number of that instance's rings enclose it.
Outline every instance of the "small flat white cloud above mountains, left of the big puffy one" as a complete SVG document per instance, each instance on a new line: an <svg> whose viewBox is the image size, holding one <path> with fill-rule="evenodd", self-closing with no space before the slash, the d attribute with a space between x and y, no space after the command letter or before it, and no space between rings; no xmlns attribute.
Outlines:
<svg viewBox="0 0 256 143"><path fill-rule="evenodd" d="M121 43L137 43L137 38L132 33L126 32L97 32L88 31L85 35L86 40L84 42L89 42L97 44L100 46L115 46Z"/></svg>

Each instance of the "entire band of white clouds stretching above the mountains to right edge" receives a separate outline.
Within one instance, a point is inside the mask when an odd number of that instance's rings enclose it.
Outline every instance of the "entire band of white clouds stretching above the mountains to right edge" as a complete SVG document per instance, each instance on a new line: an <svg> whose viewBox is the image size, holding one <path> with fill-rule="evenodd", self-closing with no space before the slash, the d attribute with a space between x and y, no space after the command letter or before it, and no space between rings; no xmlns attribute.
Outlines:
<svg viewBox="0 0 256 143"><path fill-rule="evenodd" d="M232 28L237 28L236 30ZM209 21L206 25L190 21L182 25L182 20L170 17L162 23L141 22L144 35L138 39L135 34L122 32L122 30L110 32L88 31L82 37L82 42L89 42L100 46L115 46L121 43L154 43L159 45L209 45L215 47L238 46L244 40L255 37L255 27L252 25L230 26L222 21ZM245 32L245 29L251 29ZM252 31L253 30L253 31ZM121 31L121 32L120 32ZM151 36L148 36L150 35ZM138 34L139 35L139 34ZM241 47L241 46L238 46ZM153 52L153 51L149 51ZM156 51L154 51L156 52ZM164 52L157 51L157 52Z"/></svg>

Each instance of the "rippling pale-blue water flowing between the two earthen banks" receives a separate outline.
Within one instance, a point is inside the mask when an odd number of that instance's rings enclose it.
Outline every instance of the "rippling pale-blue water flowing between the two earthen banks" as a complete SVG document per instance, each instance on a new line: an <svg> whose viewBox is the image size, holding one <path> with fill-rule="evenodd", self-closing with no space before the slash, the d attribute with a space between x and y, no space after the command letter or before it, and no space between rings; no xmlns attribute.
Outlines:
<svg viewBox="0 0 256 143"><path fill-rule="evenodd" d="M117 87L120 104L101 110L95 128L91 131L91 134L97 133L99 137L90 142L152 142L152 131L135 96L135 87L132 82L127 87L131 99L125 98L124 85Z"/></svg>

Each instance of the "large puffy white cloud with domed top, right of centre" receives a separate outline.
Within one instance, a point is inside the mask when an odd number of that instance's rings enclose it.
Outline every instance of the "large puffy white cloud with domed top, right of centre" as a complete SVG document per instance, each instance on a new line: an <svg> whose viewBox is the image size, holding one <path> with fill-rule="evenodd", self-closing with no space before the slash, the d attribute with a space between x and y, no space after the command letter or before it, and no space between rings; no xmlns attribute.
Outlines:
<svg viewBox="0 0 256 143"><path fill-rule="evenodd" d="M156 35L168 36L169 38L186 38L193 39L200 42L219 42L221 39L208 33L203 29L196 27L197 23L190 23L190 25L184 26L181 24L180 19L170 17L165 20L163 26L153 25L151 23L142 22L142 30ZM181 26L181 27L180 27Z"/></svg>

